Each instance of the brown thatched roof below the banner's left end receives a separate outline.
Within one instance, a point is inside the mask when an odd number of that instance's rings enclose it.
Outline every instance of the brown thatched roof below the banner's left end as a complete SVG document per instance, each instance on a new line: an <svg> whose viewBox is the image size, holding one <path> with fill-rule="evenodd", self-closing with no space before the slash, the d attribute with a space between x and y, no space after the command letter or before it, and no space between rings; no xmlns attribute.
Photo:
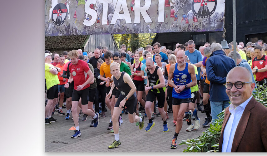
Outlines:
<svg viewBox="0 0 267 156"><path fill-rule="evenodd" d="M48 36L45 37L45 49L83 49L88 35Z"/></svg>

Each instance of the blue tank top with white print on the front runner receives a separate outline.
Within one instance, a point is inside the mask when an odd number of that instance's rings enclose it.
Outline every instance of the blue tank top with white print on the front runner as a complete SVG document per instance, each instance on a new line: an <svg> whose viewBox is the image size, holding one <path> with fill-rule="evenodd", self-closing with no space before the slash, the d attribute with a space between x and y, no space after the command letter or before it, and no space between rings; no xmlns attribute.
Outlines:
<svg viewBox="0 0 267 156"><path fill-rule="evenodd" d="M175 70L173 72L173 82L175 85L186 85L191 82L191 75L188 72L188 63L185 62L185 69L179 71L177 69L177 63L175 64ZM176 93L174 88L172 89L172 97L177 99L191 98L190 88L184 89L180 93Z"/></svg>

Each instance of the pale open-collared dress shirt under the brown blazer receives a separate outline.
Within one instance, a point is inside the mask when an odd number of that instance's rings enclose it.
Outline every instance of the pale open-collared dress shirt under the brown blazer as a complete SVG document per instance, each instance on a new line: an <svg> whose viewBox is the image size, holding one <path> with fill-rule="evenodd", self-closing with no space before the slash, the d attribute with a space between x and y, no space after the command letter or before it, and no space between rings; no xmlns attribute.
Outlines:
<svg viewBox="0 0 267 156"><path fill-rule="evenodd" d="M249 103L251 98L252 96L236 108L233 104L229 105L229 112L231 113L231 115L224 129L222 152L231 152L236 127L245 110L246 105Z"/></svg>

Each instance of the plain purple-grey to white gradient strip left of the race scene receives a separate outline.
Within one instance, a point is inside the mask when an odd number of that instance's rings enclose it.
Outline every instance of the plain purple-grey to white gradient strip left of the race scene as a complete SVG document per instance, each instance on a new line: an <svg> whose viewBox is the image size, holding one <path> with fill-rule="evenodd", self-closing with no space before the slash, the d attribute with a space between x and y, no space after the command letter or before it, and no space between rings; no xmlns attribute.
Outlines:
<svg viewBox="0 0 267 156"><path fill-rule="evenodd" d="M44 0L0 2L0 153L4 156L73 155L44 152L44 4ZM115 154L122 153L111 155Z"/></svg>

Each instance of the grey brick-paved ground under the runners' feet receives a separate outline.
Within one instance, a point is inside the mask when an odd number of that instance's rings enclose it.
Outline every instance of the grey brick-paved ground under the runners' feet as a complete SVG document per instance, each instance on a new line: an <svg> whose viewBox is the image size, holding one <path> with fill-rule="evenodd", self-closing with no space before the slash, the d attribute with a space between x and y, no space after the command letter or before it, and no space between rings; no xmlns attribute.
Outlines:
<svg viewBox="0 0 267 156"><path fill-rule="evenodd" d="M203 106L201 106L203 109ZM66 113L66 109L62 109ZM108 110L108 109L107 109ZM158 109L156 109L158 112ZM156 116L153 120L155 126L146 132L145 128L148 123L148 118L145 117L145 126L142 130L135 123L130 123L128 115L123 114L123 124L121 124L121 131L119 137L121 145L115 149L108 149L107 147L113 142L114 134L107 130L110 120L110 110L105 114L106 117L99 119L99 124L96 128L90 127L91 119L82 121L81 114L79 127L82 135L76 139L72 139L74 130L69 130L74 126L72 120L72 113L69 120L65 120L66 115L53 115L57 122L45 125L45 152L182 152L187 145L178 145L181 140L192 139L202 135L202 132L207 128L203 128L202 124L205 122L205 113L197 111L200 121L200 128L191 132L186 132L188 125L183 121L183 127L177 138L177 149L171 149L172 137L175 132L173 126L173 114L168 113L167 120L169 124L169 132L163 131L163 121L161 116ZM142 113L144 116L144 113ZM193 120L193 123L195 121Z"/></svg>

